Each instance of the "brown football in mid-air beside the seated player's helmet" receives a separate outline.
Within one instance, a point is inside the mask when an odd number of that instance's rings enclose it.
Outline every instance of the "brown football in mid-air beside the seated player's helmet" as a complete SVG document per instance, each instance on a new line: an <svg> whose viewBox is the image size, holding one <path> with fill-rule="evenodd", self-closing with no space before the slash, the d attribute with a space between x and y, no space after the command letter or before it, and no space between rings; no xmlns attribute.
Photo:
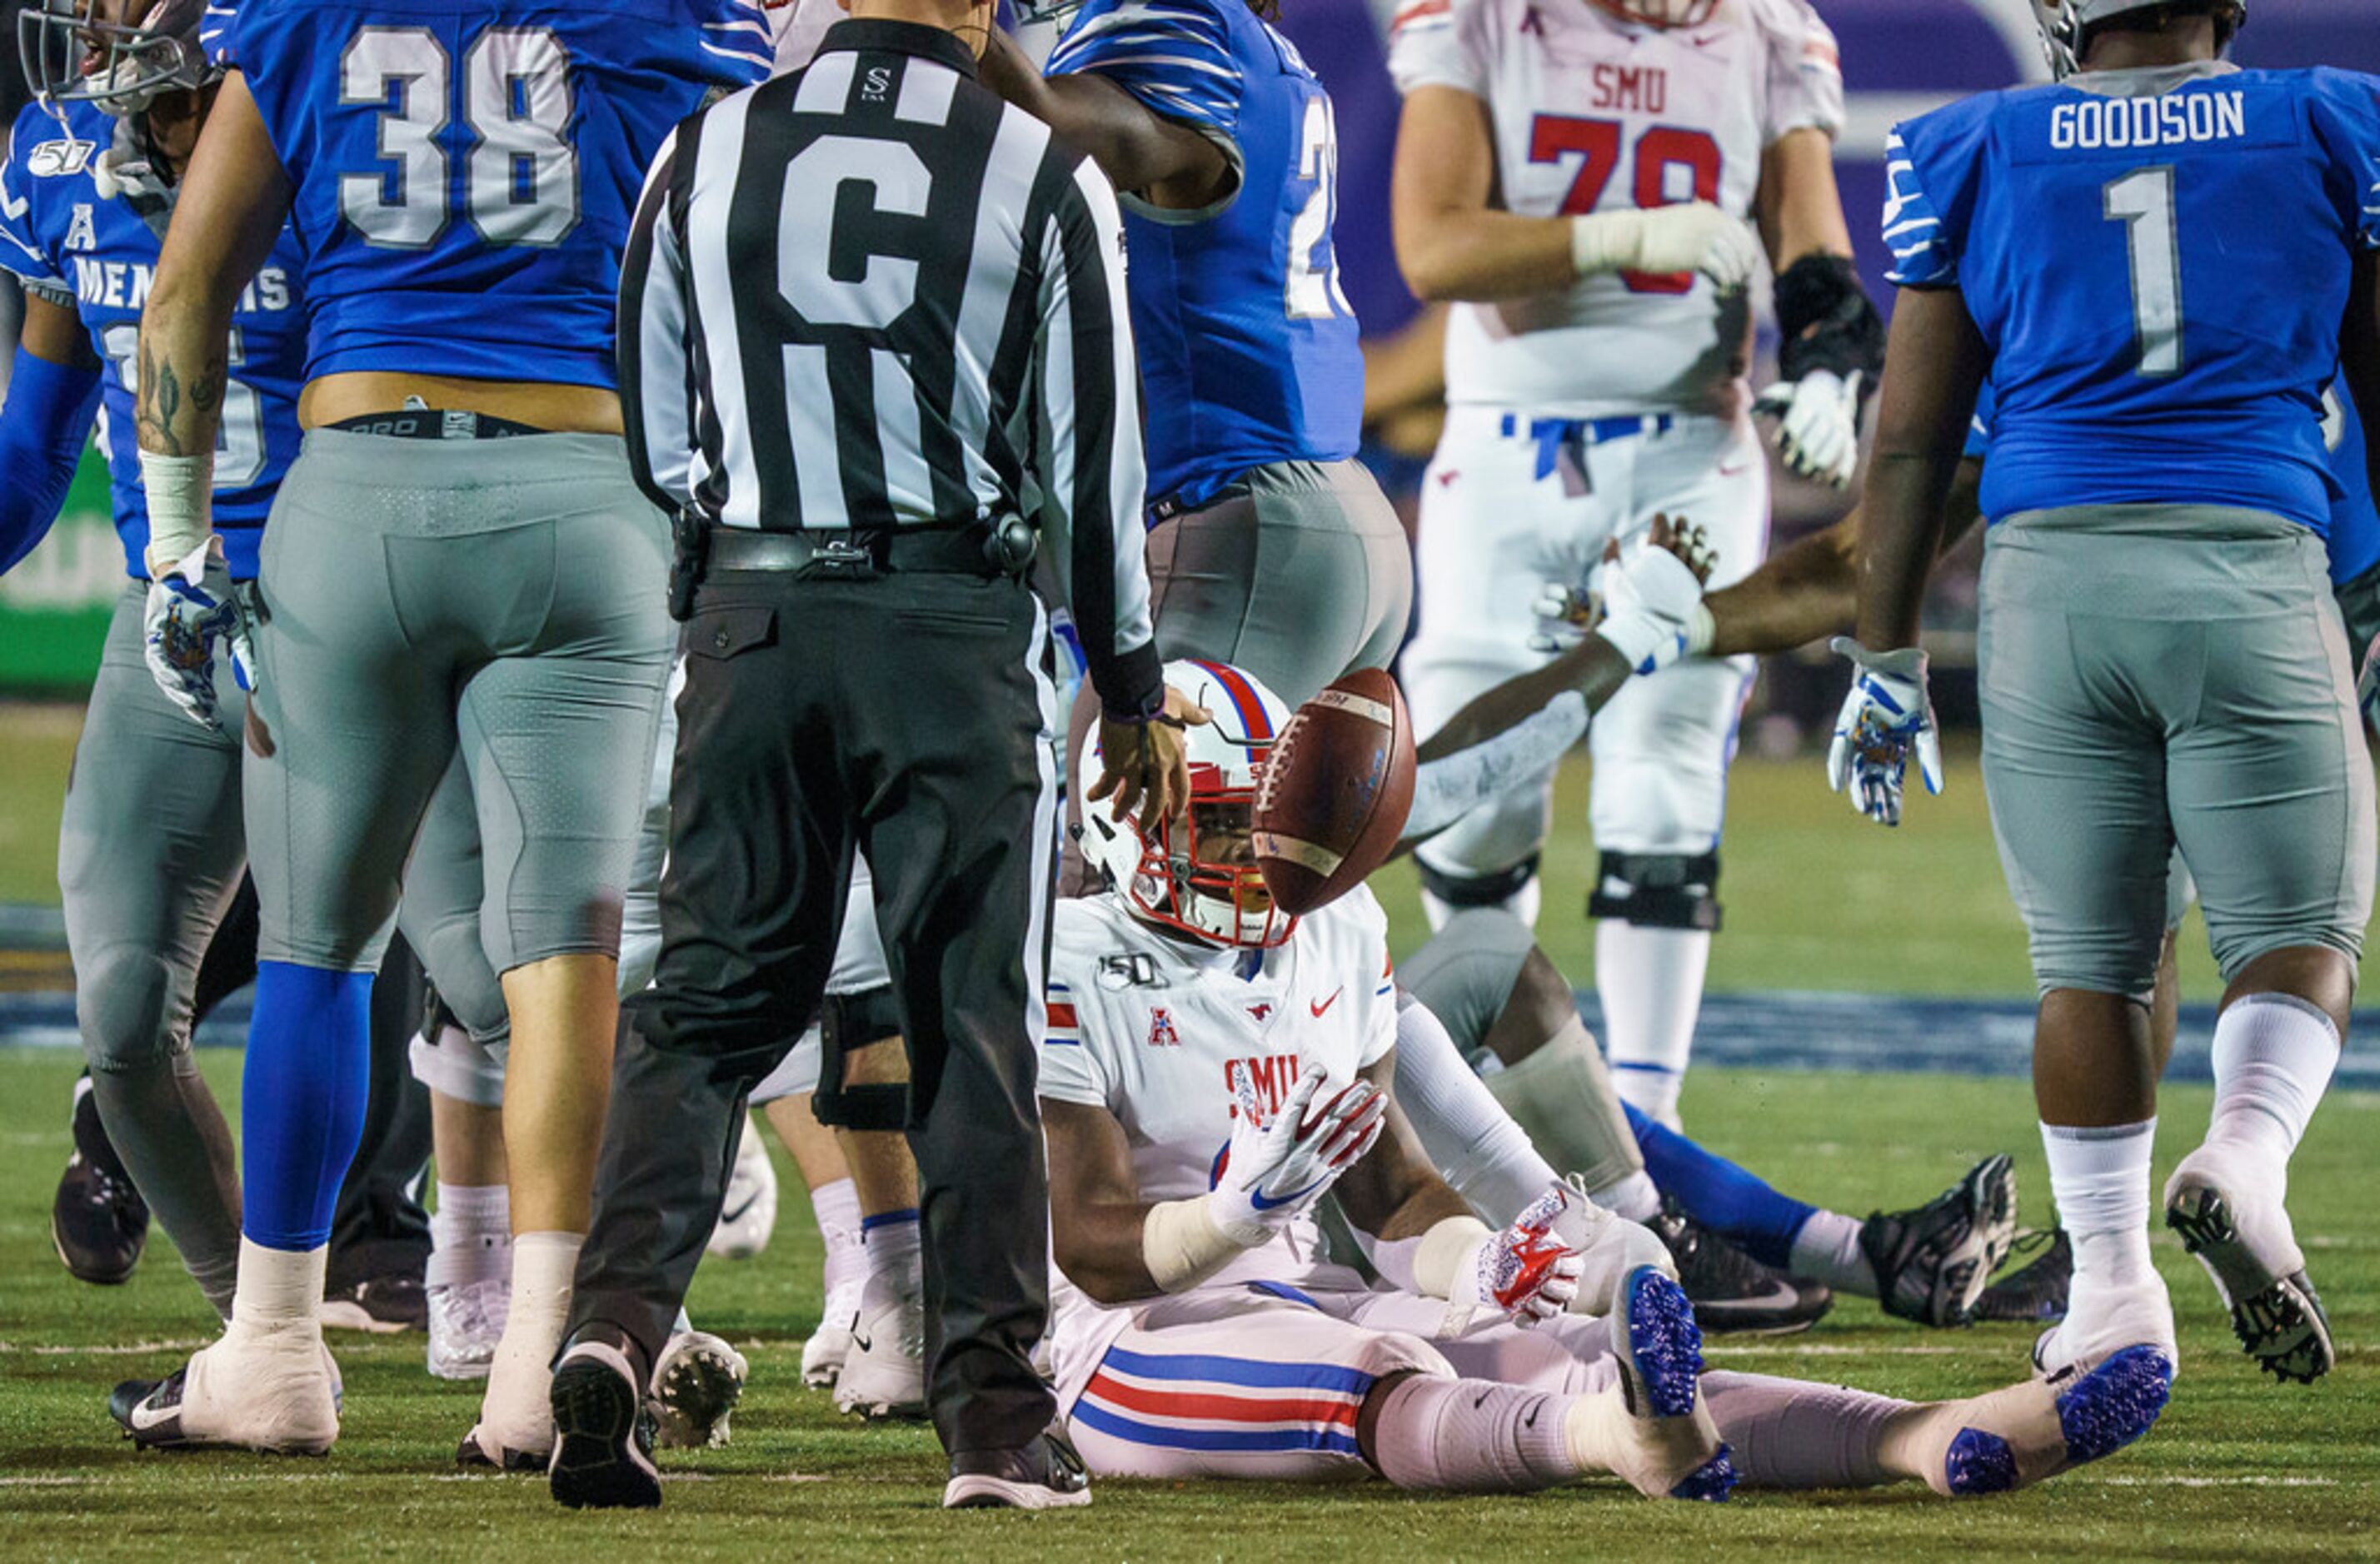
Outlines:
<svg viewBox="0 0 2380 1564"><path fill-rule="evenodd" d="M1414 807L1414 719L1361 669L1297 707L1257 781L1257 867L1283 912L1328 907L1388 862Z"/></svg>

